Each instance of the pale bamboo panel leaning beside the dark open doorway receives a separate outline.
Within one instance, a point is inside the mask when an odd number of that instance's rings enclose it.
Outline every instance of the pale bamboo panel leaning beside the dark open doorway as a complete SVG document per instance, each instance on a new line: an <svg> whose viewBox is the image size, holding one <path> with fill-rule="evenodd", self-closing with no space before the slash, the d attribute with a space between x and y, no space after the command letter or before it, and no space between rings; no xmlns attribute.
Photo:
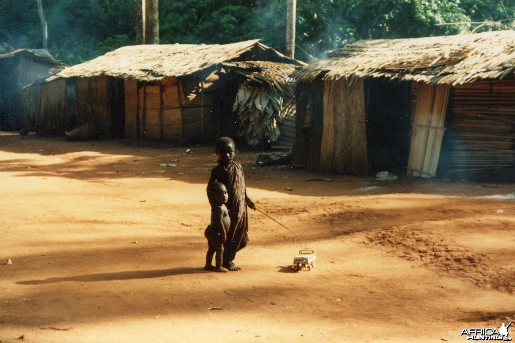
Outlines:
<svg viewBox="0 0 515 343"><path fill-rule="evenodd" d="M417 85L407 175L436 176L449 89L447 84L430 86L420 82Z"/></svg>

